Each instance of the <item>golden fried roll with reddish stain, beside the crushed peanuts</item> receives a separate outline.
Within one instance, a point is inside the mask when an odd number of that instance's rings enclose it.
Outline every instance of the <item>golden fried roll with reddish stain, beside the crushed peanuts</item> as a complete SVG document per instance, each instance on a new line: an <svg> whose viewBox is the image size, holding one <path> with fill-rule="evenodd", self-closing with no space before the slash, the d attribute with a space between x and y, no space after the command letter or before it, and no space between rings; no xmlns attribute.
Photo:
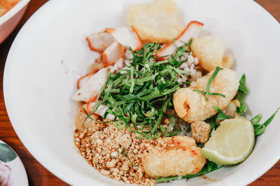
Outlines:
<svg viewBox="0 0 280 186"><path fill-rule="evenodd" d="M160 139L159 139L160 140ZM206 159L195 140L187 136L163 138L166 150L148 152L142 164L145 173L152 178L185 176L201 171Z"/></svg>

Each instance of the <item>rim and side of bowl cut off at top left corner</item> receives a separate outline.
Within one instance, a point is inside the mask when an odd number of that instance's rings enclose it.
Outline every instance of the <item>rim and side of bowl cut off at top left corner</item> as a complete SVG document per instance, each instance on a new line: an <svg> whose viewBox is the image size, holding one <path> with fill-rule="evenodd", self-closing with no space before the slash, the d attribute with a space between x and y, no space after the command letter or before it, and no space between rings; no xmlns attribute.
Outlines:
<svg viewBox="0 0 280 186"><path fill-rule="evenodd" d="M27 9L30 0L21 0L0 17L0 44L12 33Z"/></svg>

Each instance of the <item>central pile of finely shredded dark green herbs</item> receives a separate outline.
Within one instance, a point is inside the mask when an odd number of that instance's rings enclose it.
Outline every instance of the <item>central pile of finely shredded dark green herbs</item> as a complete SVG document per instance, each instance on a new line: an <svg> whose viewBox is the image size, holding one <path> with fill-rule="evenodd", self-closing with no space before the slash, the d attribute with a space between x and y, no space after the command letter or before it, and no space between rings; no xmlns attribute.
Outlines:
<svg viewBox="0 0 280 186"><path fill-rule="evenodd" d="M186 53L192 43L185 43L163 61L154 57L160 50L159 43L146 43L141 50L132 52L130 66L110 74L98 98L100 103L94 106L94 113L99 105L106 105L109 113L115 116L114 124L118 129L127 127L130 131L141 134L141 138L159 138L174 136L181 130L167 131L160 127L163 117L174 124L174 106L172 94L186 83L178 83L177 78L186 80L189 72L179 69L187 61ZM97 99L98 100L98 99ZM91 114L92 114L91 113ZM90 115L91 115L90 114ZM87 118L90 117L87 115ZM86 119L87 119L86 118ZM130 127L133 124L134 129Z"/></svg>

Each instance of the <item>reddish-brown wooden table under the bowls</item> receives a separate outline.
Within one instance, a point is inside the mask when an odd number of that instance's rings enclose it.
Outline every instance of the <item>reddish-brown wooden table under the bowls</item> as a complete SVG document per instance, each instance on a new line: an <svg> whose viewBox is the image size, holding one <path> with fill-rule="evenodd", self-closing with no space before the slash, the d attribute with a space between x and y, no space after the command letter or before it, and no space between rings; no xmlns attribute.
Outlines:
<svg viewBox="0 0 280 186"><path fill-rule="evenodd" d="M41 164L39 164L34 157L27 151L22 142L15 134L10 120L8 118L5 103L3 100L3 70L8 55L10 45L13 43L15 36L28 18L45 3L46 0L31 0L27 12L16 27L15 31L0 45L0 139L8 143L20 156L27 175L29 178L29 185L67 185L59 178L55 177ZM271 13L278 22L280 22L280 0L257 0L261 6ZM256 17L257 19L257 17ZM279 33L280 34L280 33ZM280 185L280 161L275 164L272 169L267 171L262 177L255 180L251 185Z"/></svg>

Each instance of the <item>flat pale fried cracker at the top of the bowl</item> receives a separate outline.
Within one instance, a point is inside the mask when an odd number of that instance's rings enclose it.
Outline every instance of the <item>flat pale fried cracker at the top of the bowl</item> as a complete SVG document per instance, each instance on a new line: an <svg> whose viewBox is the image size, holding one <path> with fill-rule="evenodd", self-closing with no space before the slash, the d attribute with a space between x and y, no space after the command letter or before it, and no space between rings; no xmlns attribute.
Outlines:
<svg viewBox="0 0 280 186"><path fill-rule="evenodd" d="M133 26L141 40L159 43L172 41L185 28L181 12L171 0L130 6L127 26Z"/></svg>

